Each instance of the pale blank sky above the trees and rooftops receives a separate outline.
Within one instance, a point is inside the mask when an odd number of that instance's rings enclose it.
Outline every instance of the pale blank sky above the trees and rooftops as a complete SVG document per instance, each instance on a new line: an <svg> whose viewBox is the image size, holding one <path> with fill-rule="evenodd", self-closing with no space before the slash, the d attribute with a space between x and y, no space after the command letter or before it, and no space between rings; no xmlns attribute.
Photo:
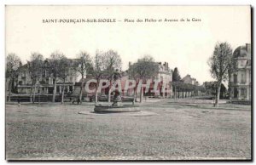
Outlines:
<svg viewBox="0 0 256 165"><path fill-rule="evenodd" d="M123 71L129 61L150 54L177 67L181 77L189 74L203 83L212 80L207 60L217 42L228 42L233 50L251 43L250 6L7 6L5 12L5 53L19 55L23 63L32 52L48 58L59 50L76 58L81 50L93 57L96 49L113 49ZM49 19L116 22L43 23Z"/></svg>

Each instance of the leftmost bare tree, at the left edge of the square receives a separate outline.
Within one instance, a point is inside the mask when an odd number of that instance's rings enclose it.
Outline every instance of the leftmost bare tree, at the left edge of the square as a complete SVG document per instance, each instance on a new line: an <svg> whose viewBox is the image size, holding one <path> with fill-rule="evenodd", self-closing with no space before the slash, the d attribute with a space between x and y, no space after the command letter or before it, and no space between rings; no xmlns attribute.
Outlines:
<svg viewBox="0 0 256 165"><path fill-rule="evenodd" d="M10 101L10 95L13 83L15 82L16 77L18 76L18 68L21 64L20 57L16 54L8 54L6 57L6 90L9 90L8 101Z"/></svg>

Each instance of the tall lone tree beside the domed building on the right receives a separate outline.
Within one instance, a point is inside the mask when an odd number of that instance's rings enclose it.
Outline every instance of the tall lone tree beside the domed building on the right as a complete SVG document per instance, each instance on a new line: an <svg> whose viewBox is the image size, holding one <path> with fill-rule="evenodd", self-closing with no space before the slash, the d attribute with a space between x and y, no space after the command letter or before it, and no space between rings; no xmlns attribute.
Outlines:
<svg viewBox="0 0 256 165"><path fill-rule="evenodd" d="M217 80L217 97L214 104L217 107L221 83L228 79L228 70L231 70L230 65L233 65L233 58L229 43L217 43L212 56L208 60L211 75Z"/></svg>

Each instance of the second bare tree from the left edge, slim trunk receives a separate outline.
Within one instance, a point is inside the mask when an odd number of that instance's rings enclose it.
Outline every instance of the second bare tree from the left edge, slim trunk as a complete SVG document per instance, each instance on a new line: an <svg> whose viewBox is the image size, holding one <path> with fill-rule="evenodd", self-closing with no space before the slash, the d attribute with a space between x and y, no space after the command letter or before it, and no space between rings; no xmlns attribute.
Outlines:
<svg viewBox="0 0 256 165"><path fill-rule="evenodd" d="M40 85L40 78L44 70L44 56L39 53L32 53L30 61L27 62L28 73L32 80L30 90L30 101L35 102L36 90Z"/></svg>

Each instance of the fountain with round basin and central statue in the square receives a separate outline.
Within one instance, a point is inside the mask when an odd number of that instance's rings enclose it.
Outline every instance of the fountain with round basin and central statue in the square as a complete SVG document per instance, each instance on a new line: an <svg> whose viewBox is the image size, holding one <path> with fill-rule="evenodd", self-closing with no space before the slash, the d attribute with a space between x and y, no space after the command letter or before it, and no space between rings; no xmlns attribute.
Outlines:
<svg viewBox="0 0 256 165"><path fill-rule="evenodd" d="M113 73L113 79L117 80L120 77L119 71ZM122 98L119 91L116 90L113 96L112 105L95 105L94 111L97 113L109 113L109 112L134 112L140 111L139 105L123 105Z"/></svg>

